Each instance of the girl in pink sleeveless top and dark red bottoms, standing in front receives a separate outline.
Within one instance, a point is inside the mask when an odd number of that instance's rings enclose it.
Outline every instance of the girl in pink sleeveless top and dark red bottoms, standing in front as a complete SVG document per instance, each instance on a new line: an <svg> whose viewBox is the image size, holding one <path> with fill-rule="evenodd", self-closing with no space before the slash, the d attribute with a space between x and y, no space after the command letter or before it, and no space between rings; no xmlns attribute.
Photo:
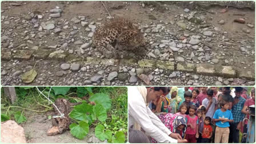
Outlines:
<svg viewBox="0 0 256 144"><path fill-rule="evenodd" d="M186 115L187 131L186 138L189 143L196 143L198 138L198 117L195 115L197 107L191 105L189 107L189 115Z"/></svg>

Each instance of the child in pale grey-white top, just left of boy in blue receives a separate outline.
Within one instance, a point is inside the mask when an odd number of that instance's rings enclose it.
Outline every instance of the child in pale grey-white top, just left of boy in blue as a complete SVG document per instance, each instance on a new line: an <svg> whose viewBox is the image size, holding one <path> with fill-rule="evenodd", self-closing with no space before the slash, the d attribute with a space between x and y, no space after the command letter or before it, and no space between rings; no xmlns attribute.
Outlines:
<svg viewBox="0 0 256 144"><path fill-rule="evenodd" d="M207 97L203 99L202 105L206 107L206 117L213 118L214 111L217 109L217 101L213 98L213 90L207 90L206 95Z"/></svg>

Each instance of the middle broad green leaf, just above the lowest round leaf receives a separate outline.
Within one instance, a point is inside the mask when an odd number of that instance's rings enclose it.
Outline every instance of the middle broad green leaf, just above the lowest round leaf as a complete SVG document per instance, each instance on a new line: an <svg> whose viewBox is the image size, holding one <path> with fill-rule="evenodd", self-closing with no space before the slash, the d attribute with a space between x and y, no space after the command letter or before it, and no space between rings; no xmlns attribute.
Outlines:
<svg viewBox="0 0 256 144"><path fill-rule="evenodd" d="M87 113L93 113L93 106L82 103L81 105L74 106L74 110L71 111L69 117L78 119L79 121L85 121L87 119Z"/></svg>

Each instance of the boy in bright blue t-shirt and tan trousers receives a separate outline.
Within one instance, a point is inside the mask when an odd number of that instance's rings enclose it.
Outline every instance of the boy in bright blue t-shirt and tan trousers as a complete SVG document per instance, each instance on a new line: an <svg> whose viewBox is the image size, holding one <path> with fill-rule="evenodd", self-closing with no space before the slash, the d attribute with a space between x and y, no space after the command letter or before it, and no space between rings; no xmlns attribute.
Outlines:
<svg viewBox="0 0 256 144"><path fill-rule="evenodd" d="M218 109L214 113L214 121L216 122L215 130L215 143L228 143L229 142L229 122L233 122L233 115L229 110L229 102L220 101L219 105L221 109Z"/></svg>

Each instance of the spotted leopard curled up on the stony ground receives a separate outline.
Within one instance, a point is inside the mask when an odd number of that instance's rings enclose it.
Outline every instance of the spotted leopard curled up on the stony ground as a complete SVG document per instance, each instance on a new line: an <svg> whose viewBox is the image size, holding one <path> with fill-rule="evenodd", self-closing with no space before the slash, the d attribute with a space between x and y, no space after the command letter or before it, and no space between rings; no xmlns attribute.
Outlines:
<svg viewBox="0 0 256 144"><path fill-rule="evenodd" d="M93 45L106 58L121 58L129 52L144 54L146 41L134 22L117 17L95 31Z"/></svg>

